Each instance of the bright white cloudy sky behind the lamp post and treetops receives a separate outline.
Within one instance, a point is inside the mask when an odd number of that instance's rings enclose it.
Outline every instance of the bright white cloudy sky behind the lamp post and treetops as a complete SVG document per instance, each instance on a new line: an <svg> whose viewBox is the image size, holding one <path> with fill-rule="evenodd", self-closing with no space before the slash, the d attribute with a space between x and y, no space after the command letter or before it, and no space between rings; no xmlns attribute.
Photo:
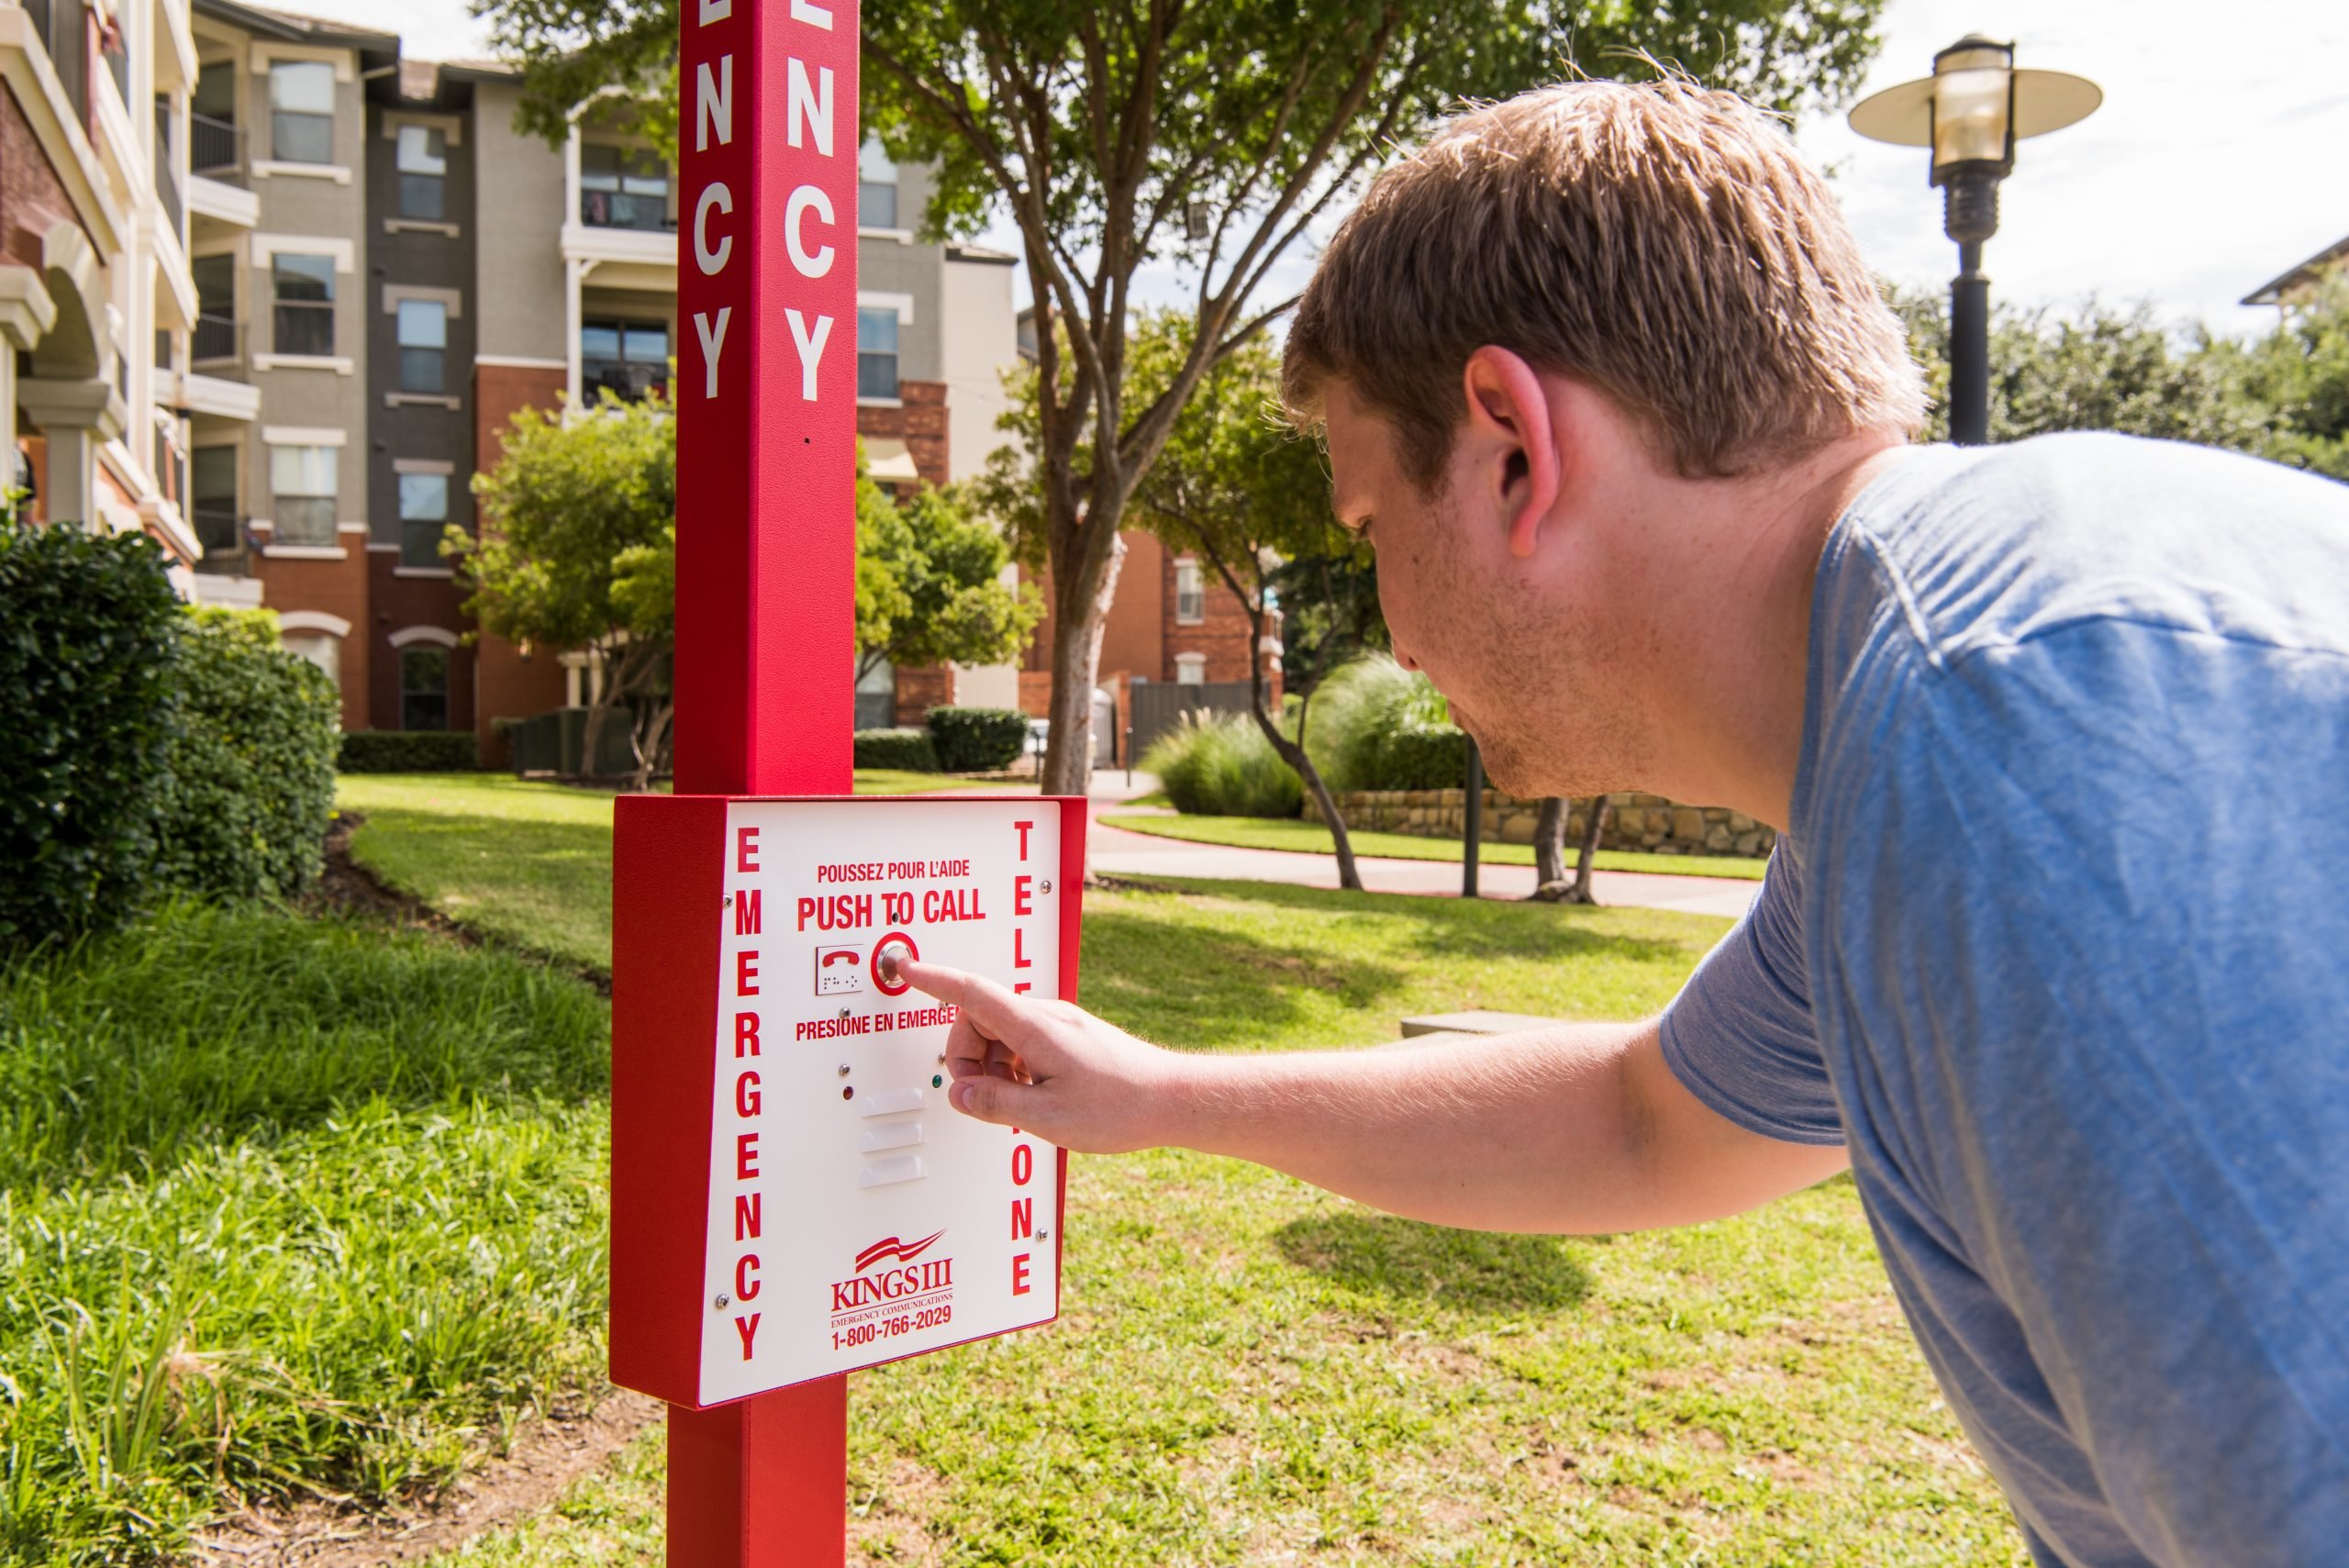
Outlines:
<svg viewBox="0 0 2349 1568"><path fill-rule="evenodd" d="M284 9L397 28L409 54L489 54L465 0L280 0ZM2025 141L1985 251L1992 296L2015 305L2152 303L2175 326L2241 336L2274 324L2246 293L2349 235L2349 5L2342 0L1889 0L1865 92L1933 70L1964 33L2015 42L2015 63L2086 75L2102 108ZM1954 246L1924 148L1863 141L1844 115L1806 117L1804 155L1830 171L1860 251L1886 277L1947 286ZM987 242L1017 249L1008 225ZM1294 289L1308 254L1273 289ZM1172 270L1144 300L1186 300ZM1024 293L1024 279L1022 279ZM1276 296L1278 298L1278 296Z"/></svg>

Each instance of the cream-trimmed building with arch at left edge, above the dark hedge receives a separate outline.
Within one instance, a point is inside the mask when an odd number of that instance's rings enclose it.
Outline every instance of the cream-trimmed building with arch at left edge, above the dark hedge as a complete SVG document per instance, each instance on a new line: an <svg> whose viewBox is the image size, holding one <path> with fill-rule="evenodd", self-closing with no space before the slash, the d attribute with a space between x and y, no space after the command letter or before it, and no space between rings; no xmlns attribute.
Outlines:
<svg viewBox="0 0 2349 1568"><path fill-rule="evenodd" d="M181 592L188 0L0 0L0 486L38 521L146 533Z"/></svg>

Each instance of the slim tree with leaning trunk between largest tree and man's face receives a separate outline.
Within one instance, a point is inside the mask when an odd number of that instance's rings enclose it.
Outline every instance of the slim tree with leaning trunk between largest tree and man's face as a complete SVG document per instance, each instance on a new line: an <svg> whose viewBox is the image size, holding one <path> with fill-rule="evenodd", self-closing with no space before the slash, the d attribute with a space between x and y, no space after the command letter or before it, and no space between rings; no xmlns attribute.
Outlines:
<svg viewBox="0 0 2349 1568"><path fill-rule="evenodd" d="M1137 324L1135 340L1146 357L1174 361L1186 354L1191 331L1189 317L1156 312ZM1278 624L1271 577L1285 556L1327 552L1337 533L1320 448L1273 420L1278 390L1280 364L1261 336L1224 354L1174 420L1158 462L1142 477L1135 521L1177 549L1196 549L1247 610L1247 688L1257 730L1313 791L1337 845L1339 885L1360 892L1346 819L1304 746L1313 697L1308 692L1299 704L1297 735L1290 737L1271 707L1266 678L1266 643Z"/></svg>

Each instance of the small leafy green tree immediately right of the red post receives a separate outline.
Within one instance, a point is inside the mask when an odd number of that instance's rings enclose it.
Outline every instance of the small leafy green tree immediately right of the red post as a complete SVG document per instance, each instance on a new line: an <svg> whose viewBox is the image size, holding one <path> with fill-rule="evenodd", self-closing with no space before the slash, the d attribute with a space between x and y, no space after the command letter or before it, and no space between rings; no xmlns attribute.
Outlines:
<svg viewBox="0 0 2349 1568"><path fill-rule="evenodd" d="M1001 664L1019 657L1043 613L1034 589L1001 582L1010 545L970 514L961 488L907 500L857 458L857 678L881 667Z"/></svg>

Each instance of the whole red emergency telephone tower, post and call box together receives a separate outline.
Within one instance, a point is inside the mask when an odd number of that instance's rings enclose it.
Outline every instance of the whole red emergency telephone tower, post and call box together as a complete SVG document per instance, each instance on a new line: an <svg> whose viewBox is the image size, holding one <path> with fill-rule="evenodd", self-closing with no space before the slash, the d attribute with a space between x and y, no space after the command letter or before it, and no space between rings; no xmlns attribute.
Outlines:
<svg viewBox="0 0 2349 1568"><path fill-rule="evenodd" d="M850 800L857 0L681 0L677 793L613 833L611 1376L672 1568L846 1556L846 1368L1048 1322L1066 1155L900 944L1076 993L1085 803Z"/></svg>

